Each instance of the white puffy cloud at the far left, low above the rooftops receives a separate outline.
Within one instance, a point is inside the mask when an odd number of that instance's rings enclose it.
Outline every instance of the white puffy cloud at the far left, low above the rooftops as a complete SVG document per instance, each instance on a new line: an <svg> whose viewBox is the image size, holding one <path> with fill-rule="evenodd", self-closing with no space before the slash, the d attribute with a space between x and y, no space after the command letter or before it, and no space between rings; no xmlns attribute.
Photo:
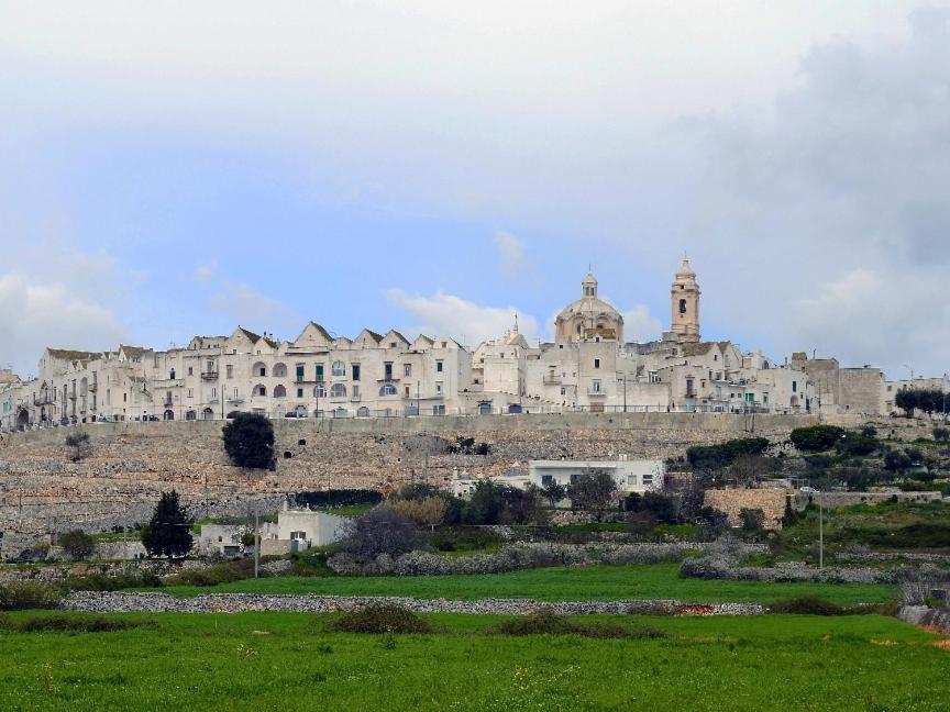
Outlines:
<svg viewBox="0 0 950 712"><path fill-rule="evenodd" d="M115 348L126 332L115 314L66 283L24 275L0 275L0 365L25 378L35 375L46 346L85 351Z"/></svg>

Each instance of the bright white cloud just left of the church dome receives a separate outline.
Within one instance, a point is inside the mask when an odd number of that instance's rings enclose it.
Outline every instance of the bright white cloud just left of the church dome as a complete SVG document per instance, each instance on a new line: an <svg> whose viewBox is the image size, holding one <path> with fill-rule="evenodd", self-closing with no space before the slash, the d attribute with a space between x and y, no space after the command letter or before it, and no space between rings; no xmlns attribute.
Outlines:
<svg viewBox="0 0 950 712"><path fill-rule="evenodd" d="M386 299L415 320L413 331L432 336L449 334L468 346L502 336L513 325L515 314L527 338L539 335L538 320L517 307L484 307L443 292L423 297L401 289L387 290Z"/></svg>

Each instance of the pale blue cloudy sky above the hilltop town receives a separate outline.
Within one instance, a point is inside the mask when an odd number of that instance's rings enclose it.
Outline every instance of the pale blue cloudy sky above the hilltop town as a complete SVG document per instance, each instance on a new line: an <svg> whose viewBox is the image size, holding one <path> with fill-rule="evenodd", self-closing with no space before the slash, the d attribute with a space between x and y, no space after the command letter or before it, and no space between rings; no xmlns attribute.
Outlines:
<svg viewBox="0 0 950 712"><path fill-rule="evenodd" d="M0 0L0 367L317 321L950 369L950 3Z"/></svg>

